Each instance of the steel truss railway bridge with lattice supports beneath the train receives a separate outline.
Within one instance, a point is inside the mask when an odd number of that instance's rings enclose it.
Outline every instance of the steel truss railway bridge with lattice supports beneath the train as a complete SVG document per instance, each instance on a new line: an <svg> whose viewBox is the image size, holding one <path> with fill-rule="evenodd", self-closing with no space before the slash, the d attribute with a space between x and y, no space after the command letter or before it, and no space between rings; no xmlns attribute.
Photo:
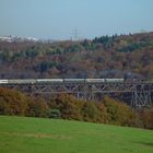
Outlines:
<svg viewBox="0 0 153 153"><path fill-rule="evenodd" d="M14 89L28 94L56 95L73 94L76 98L85 101L101 101L105 95L127 97L127 103L132 107L149 106L153 102L153 82L113 82L113 83L40 83L40 84L0 84L0 87Z"/></svg>

